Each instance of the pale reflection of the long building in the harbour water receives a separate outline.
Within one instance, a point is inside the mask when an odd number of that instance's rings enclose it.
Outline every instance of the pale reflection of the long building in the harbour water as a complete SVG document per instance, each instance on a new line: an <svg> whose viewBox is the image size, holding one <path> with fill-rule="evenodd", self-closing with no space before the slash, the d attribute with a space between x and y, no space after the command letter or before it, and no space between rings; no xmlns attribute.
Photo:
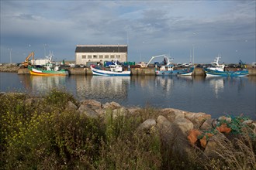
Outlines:
<svg viewBox="0 0 256 170"><path fill-rule="evenodd" d="M83 76L76 80L76 96L80 100L94 99L102 103L127 99L130 76Z"/></svg>

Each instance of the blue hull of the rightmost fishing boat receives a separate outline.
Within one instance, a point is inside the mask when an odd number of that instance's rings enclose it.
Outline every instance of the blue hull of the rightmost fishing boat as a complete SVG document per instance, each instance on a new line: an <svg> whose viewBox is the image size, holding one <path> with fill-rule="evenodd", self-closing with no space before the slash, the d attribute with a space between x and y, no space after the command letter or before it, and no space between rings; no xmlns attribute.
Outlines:
<svg viewBox="0 0 256 170"><path fill-rule="evenodd" d="M218 71L218 70L209 70L204 69L206 76L225 76L225 77L236 77L236 76L249 76L248 70L239 70L239 71Z"/></svg>

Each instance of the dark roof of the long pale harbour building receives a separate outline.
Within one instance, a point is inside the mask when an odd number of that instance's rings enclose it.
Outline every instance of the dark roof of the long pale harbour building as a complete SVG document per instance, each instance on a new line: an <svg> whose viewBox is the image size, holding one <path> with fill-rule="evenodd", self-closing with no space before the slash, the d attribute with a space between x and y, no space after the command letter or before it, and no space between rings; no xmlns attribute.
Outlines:
<svg viewBox="0 0 256 170"><path fill-rule="evenodd" d="M75 53L127 53L126 45L78 45Z"/></svg>

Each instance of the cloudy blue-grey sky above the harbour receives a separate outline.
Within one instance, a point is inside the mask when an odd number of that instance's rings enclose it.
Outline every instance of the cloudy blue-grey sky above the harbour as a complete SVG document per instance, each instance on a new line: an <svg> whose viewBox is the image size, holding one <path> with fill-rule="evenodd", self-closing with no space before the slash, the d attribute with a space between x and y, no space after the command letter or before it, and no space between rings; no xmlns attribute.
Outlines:
<svg viewBox="0 0 256 170"><path fill-rule="evenodd" d="M128 44L129 61L168 54L174 63L256 61L255 1L1 0L0 63L74 60L76 45ZM11 52L11 57L10 57ZM191 54L191 56L190 56ZM11 59L10 59L11 58Z"/></svg>

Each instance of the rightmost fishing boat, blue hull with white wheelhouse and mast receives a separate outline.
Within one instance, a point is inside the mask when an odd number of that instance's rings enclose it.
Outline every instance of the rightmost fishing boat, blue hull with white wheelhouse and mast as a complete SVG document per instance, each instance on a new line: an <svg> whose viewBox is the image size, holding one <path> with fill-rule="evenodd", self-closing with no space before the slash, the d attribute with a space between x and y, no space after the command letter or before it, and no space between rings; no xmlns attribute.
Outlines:
<svg viewBox="0 0 256 170"><path fill-rule="evenodd" d="M224 64L220 64L220 56L216 57L214 62L212 63L213 66L209 66L204 68L206 72L206 76L229 76L229 77L235 77L235 76L248 76L249 72L247 69L244 69L244 64L240 61L241 68L239 68L236 71L229 71L226 69L226 66Z"/></svg>

